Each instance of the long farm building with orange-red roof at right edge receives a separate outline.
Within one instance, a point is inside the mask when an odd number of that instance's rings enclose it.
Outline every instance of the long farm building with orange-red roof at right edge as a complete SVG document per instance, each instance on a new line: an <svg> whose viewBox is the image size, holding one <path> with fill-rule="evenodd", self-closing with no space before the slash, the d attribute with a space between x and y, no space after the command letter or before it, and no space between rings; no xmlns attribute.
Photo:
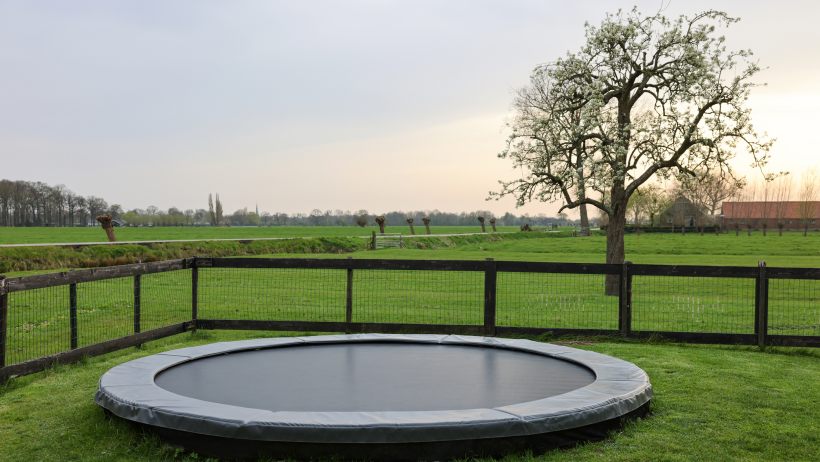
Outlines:
<svg viewBox="0 0 820 462"><path fill-rule="evenodd" d="M782 202L724 202L721 206L721 225L733 228L817 229L820 225L820 201Z"/></svg>

